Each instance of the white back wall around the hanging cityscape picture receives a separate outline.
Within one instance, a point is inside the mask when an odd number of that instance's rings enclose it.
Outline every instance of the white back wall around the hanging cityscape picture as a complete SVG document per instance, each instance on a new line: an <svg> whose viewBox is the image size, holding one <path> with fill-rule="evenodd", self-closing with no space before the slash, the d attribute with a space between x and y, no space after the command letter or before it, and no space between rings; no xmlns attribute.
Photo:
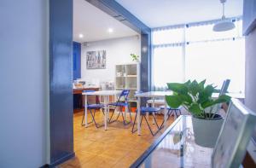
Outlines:
<svg viewBox="0 0 256 168"><path fill-rule="evenodd" d="M86 69L86 52L105 49L107 53L106 69ZM114 81L115 65L131 63L131 53L141 55L141 41L137 36L115 38L82 44L81 78L86 81Z"/></svg>

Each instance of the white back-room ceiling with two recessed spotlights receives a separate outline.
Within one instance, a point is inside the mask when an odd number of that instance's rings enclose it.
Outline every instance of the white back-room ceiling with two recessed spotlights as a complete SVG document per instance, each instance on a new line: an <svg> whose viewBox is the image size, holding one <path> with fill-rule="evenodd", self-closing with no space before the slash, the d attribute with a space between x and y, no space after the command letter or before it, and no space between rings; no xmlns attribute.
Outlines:
<svg viewBox="0 0 256 168"><path fill-rule="evenodd" d="M108 28L113 32L109 33ZM79 38L82 33L84 38ZM73 0L73 40L79 43L137 35L130 27L115 20L84 0Z"/></svg>

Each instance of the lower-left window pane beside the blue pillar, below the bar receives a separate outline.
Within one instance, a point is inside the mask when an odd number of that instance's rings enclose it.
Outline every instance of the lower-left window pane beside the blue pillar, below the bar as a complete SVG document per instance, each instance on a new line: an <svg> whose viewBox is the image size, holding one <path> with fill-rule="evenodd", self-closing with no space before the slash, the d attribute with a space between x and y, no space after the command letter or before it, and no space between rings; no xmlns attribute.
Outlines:
<svg viewBox="0 0 256 168"><path fill-rule="evenodd" d="M183 82L182 46L154 49L154 85L166 87L167 82Z"/></svg>

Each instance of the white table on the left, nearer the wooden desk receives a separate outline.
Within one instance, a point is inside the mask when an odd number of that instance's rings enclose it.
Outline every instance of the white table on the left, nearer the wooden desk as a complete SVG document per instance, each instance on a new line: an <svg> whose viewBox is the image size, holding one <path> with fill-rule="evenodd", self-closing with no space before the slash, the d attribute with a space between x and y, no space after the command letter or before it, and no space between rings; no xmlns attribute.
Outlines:
<svg viewBox="0 0 256 168"><path fill-rule="evenodd" d="M109 96L118 96L122 93L122 90L100 90L100 91L92 91L92 92L83 92L82 95L84 96L84 123L85 127L88 127L87 121L87 96L102 96L104 100L104 127L105 130L108 130L108 114L109 114Z"/></svg>

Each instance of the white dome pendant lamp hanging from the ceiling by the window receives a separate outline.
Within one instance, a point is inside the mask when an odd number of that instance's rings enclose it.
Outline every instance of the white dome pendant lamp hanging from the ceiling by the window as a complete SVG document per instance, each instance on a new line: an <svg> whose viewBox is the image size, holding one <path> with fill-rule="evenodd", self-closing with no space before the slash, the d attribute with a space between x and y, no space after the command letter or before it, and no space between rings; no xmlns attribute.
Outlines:
<svg viewBox="0 0 256 168"><path fill-rule="evenodd" d="M224 14L224 3L226 3L227 0L220 0L220 3L222 3L222 18L218 23L216 23L212 30L214 32L224 32L224 31L230 31L235 28L235 24L231 20L226 20L225 14Z"/></svg>

